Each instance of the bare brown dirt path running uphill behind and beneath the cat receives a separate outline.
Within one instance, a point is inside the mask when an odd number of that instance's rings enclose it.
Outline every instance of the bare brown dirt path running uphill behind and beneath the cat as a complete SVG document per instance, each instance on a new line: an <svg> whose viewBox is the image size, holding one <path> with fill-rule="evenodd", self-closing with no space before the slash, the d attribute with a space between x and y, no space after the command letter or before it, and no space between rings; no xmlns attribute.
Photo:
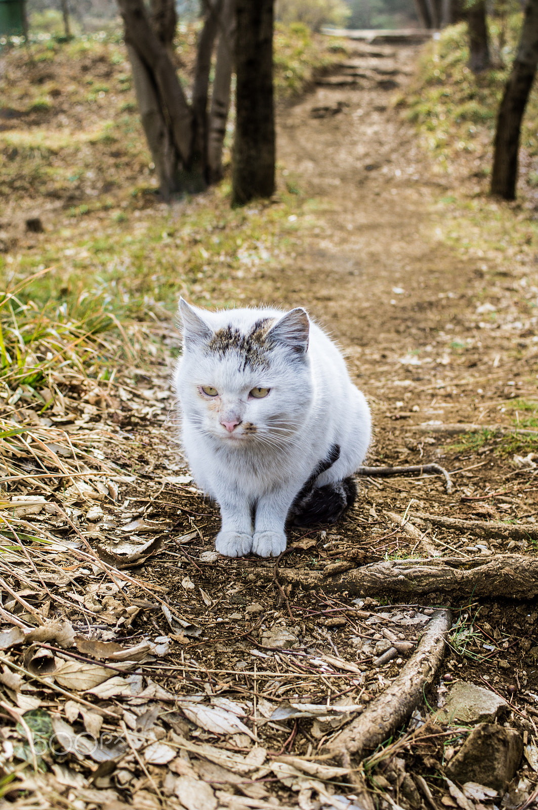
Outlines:
<svg viewBox="0 0 538 810"><path fill-rule="evenodd" d="M339 565L345 570L412 554L416 539L388 512L531 523L538 514L534 462L530 458L526 467L517 467L513 458L533 449L526 440L493 433L479 434L480 441L462 440L440 428L455 423L513 428L516 411L510 402L536 402L536 317L522 304L518 287L523 276L536 283L536 265L499 267L443 238L445 209L438 200L450 195L450 177L436 172L416 131L393 104L395 90L408 86L419 49L353 47L346 62L357 66L343 66L297 104L280 109L280 168L288 190L297 187L308 196L310 213L305 209L297 220L284 269L269 266L242 279L241 297L254 305L303 305L338 340L373 411L369 465L442 464L455 488L448 494L435 475L360 478L359 497L348 514L335 527L290 530L289 552L276 564L254 556L217 559L211 550L218 510L188 480L170 482L171 471L188 474L186 467L177 469L173 428L136 405L143 403L143 388L166 388L169 368L152 369L147 378L140 373L130 412L120 403L117 414L109 410L110 430L122 431L122 439L138 448L130 461L137 479L121 485L117 505L104 508L111 520L142 516L168 522L164 549L131 573L202 629L193 635L198 631L173 622L174 643L165 663L147 667L173 692L202 689L245 701L255 694L272 705L293 697L366 704L410 654L376 664L378 652L369 642L382 641L379 629L415 642L432 607L450 604L450 598L432 593L421 604L398 606L389 604L390 594L365 599L327 589L284 589L278 568L329 571L327 566ZM490 308L480 309L485 301ZM76 408L75 398L72 403ZM126 467L124 453L130 451L125 441L121 452L117 446L106 446L107 458ZM113 537L111 526L110 531L103 524L94 527L97 536ZM416 526L426 532L432 554L510 550L536 555L532 539L509 544L427 522ZM131 599L137 595L148 598L136 588L130 591ZM128 632L169 635L159 606L145 602L144 607ZM429 699L442 699L444 684L459 677L489 684L509 702L510 723L536 734L536 604L509 595L479 602L471 592L462 602L453 600L451 608L462 634L452 637L442 673L446 679L434 684L438 692L433 689ZM275 628L287 629L293 638L273 654L267 631ZM327 659L324 667L316 663L319 656L331 655L354 663L365 680L357 672L331 668ZM428 714L425 706L421 712L423 718ZM322 752L338 725L301 718L260 724L256 733L273 753L310 756ZM184 718L176 727L200 741L215 740ZM245 752L250 740L235 735L227 746ZM408 752L408 767L425 776L438 771L438 741ZM437 791L441 795L442 789ZM295 801L282 785L273 792Z"/></svg>

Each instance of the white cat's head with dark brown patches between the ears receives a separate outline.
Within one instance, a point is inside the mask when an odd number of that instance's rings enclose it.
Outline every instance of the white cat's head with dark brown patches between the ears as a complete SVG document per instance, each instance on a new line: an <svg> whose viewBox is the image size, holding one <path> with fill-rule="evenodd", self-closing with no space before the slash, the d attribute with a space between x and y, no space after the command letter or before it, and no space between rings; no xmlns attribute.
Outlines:
<svg viewBox="0 0 538 810"><path fill-rule="evenodd" d="M181 299L179 317L174 382L184 417L227 445L283 446L312 403L305 310L209 312Z"/></svg>

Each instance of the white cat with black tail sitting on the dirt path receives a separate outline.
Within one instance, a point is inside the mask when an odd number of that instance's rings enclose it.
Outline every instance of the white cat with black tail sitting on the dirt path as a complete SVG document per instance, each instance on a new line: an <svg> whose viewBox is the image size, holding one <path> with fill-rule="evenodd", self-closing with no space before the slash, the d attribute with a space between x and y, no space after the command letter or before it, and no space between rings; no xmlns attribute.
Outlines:
<svg viewBox="0 0 538 810"><path fill-rule="evenodd" d="M284 524L335 522L370 441L365 397L304 309L209 312L179 303L174 374L197 484L220 505L216 550L278 556Z"/></svg>

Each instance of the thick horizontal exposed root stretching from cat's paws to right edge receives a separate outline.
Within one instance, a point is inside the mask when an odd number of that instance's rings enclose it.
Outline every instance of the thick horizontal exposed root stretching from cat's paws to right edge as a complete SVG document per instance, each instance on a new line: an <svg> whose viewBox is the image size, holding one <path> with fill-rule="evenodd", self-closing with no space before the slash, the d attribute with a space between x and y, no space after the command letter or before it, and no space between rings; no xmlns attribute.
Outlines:
<svg viewBox="0 0 538 810"><path fill-rule="evenodd" d="M257 569L260 578L272 578L271 569ZM382 561L362 568L324 576L322 571L280 568L280 582L305 589L322 587L350 596L391 594L416 601L428 594L454 599L488 597L534 599L538 596L538 558L521 554L442 557L430 560Z"/></svg>

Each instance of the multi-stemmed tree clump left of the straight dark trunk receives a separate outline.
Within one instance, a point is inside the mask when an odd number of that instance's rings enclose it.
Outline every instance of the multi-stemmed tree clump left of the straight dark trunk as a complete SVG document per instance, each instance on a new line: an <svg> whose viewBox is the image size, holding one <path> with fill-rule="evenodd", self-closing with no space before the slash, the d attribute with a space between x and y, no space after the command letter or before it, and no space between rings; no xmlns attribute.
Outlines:
<svg viewBox="0 0 538 810"><path fill-rule="evenodd" d="M177 191L203 190L215 177L207 149L211 130L211 115L208 121L207 114L211 58L217 32L221 39L230 32L229 21L223 16L225 10L230 13L230 3L204 2L205 21L199 36L193 100L189 104L173 66L176 26L173 0L152 0L151 15L143 0L117 2L125 23L140 117L159 177L160 193L168 199ZM231 70L226 75L228 79L216 77L216 84L222 88L228 81L229 98ZM225 106L227 110L228 104Z"/></svg>

